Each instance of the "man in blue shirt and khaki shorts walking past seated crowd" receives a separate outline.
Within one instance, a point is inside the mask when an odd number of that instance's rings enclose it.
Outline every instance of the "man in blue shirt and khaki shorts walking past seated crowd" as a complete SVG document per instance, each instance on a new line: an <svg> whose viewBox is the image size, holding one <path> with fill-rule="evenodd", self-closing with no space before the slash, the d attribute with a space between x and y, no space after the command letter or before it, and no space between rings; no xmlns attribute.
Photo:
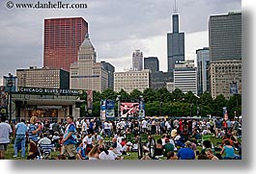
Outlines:
<svg viewBox="0 0 256 174"><path fill-rule="evenodd" d="M62 148L61 155L66 154L66 152L69 155L69 160L80 160L80 157L76 151L75 145L76 145L76 137L75 137L75 124L73 123L73 116L69 115L67 117L67 123L68 126L66 128L66 131L64 133L62 144L64 147Z"/></svg>

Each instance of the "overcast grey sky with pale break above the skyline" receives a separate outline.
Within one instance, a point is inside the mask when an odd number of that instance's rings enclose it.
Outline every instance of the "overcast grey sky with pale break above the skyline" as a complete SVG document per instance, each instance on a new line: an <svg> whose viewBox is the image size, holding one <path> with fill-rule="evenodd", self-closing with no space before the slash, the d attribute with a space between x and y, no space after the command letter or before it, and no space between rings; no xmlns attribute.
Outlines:
<svg viewBox="0 0 256 174"><path fill-rule="evenodd" d="M0 4L0 77L15 75L16 68L43 66L43 19L81 16L89 24L89 35L97 61L106 61L124 71L131 54L140 49L144 57L156 56L160 70L167 69L167 33L172 32L174 0L62 0L86 3L83 10L8 9ZM37 3L39 0L13 0ZM57 0L41 0L41 3ZM177 0L180 32L185 32L185 60L195 59L196 49L207 47L210 15L242 11L241 0ZM0 85L2 80L0 79Z"/></svg>

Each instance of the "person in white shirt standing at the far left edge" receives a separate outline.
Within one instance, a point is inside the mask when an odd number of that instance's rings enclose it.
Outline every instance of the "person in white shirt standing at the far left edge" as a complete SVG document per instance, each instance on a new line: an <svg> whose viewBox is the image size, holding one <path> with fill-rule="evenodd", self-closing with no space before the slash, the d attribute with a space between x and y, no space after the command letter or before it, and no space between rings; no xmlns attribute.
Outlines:
<svg viewBox="0 0 256 174"><path fill-rule="evenodd" d="M6 117L1 116L0 119L0 160L5 160L5 151L10 143L9 135L13 133L10 124L6 123Z"/></svg>

